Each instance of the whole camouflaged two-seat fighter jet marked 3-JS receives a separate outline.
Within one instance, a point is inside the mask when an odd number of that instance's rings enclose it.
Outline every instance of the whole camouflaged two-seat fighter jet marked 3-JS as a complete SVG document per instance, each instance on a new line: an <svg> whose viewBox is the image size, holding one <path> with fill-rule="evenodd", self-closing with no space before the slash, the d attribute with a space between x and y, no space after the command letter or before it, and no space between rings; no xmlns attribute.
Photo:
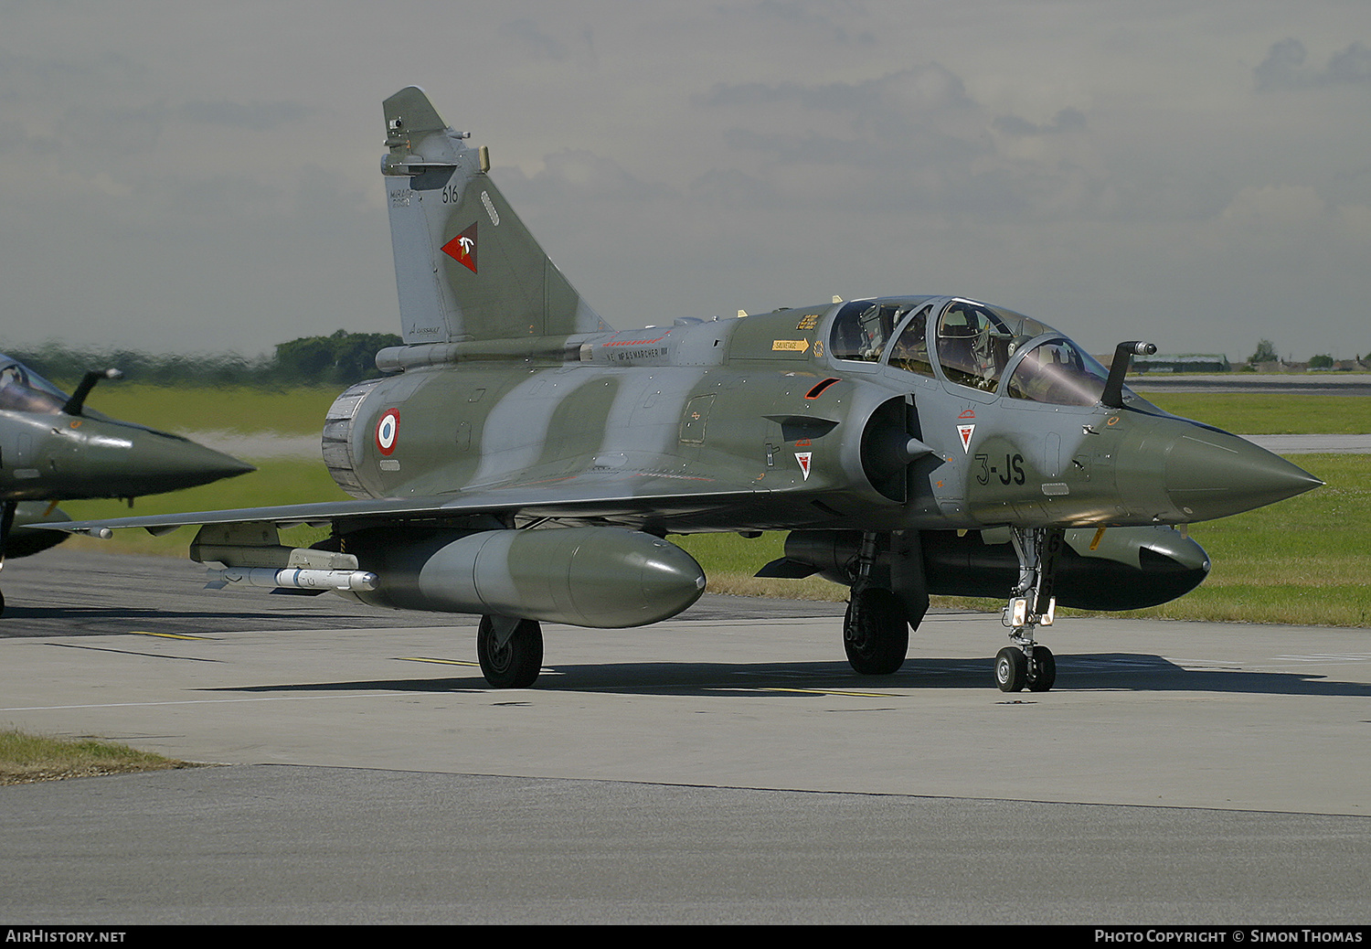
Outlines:
<svg viewBox="0 0 1371 949"><path fill-rule="evenodd" d="M958 296L898 296L613 331L417 88L385 100L404 344L343 392L324 458L356 501L74 525L200 524L211 584L337 590L476 613L496 687L524 687L540 621L675 616L705 575L670 533L790 531L765 576L851 587L857 672L899 668L930 594L1008 597L1005 691L1050 688L1056 606L1191 590L1172 525L1318 479L1138 398L1052 326ZM648 321L651 317L648 315ZM328 525L308 549L277 528Z"/></svg>

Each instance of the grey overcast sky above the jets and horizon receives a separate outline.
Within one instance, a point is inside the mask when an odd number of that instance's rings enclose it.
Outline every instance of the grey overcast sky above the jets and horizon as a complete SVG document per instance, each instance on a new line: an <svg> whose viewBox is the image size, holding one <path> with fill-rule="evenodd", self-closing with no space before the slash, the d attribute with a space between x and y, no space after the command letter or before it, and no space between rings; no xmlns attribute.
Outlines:
<svg viewBox="0 0 1371 949"><path fill-rule="evenodd" d="M954 293L1371 351L1367 0L0 0L0 350L399 332L406 85L617 328Z"/></svg>

